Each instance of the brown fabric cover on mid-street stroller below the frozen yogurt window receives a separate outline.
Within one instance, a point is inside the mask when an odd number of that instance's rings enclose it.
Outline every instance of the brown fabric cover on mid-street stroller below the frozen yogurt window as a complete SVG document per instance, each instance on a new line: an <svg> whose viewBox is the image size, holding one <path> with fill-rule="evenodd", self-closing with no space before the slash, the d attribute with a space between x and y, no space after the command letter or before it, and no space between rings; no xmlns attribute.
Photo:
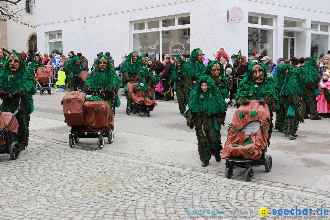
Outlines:
<svg viewBox="0 0 330 220"><path fill-rule="evenodd" d="M135 103L138 103L140 105L150 106L150 111L152 111L153 108L155 107L155 102L148 98L147 92L144 92L142 90L139 91L137 89L137 86L138 86L137 83L134 84L127 83L128 97L130 97Z"/></svg>

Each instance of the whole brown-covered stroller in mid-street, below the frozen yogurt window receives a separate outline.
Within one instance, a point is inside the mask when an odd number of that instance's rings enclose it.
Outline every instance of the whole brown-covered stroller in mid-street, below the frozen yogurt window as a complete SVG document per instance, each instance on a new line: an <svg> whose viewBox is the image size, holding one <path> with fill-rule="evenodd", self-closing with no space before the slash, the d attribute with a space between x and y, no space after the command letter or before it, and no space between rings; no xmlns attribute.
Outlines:
<svg viewBox="0 0 330 220"><path fill-rule="evenodd" d="M139 112L140 117L142 117L142 113L145 113L150 117L150 111L155 107L155 102L148 98L147 92L137 89L141 84L127 83L128 96L131 98L132 102L131 105L126 108L126 114L130 115L132 111L133 113Z"/></svg>

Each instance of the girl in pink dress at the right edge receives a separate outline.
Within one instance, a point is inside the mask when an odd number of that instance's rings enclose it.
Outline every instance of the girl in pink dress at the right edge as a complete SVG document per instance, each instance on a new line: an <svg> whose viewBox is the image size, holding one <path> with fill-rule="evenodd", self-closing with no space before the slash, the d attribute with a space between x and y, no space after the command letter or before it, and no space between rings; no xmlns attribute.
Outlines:
<svg viewBox="0 0 330 220"><path fill-rule="evenodd" d="M320 88L321 95L316 96L317 100L317 112L320 114L323 114L323 118L330 117L330 104L327 102L327 100L324 97L324 93L329 93L330 90L330 73L325 72L323 74L323 78L318 83Z"/></svg>

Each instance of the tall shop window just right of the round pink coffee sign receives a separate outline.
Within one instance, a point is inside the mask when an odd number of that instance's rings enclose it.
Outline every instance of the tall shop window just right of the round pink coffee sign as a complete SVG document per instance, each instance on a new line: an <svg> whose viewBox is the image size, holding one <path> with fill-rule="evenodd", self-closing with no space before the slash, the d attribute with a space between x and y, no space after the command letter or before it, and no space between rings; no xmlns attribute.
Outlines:
<svg viewBox="0 0 330 220"><path fill-rule="evenodd" d="M259 55L269 56L273 60L274 24L272 17L261 15L248 16L248 60L255 58L251 55L257 50Z"/></svg>

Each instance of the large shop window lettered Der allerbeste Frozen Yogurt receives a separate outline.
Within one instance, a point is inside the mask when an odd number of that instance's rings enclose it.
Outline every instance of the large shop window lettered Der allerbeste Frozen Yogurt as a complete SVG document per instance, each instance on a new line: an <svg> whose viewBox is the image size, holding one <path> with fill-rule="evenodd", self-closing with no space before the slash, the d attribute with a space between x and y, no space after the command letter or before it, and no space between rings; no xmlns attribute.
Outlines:
<svg viewBox="0 0 330 220"><path fill-rule="evenodd" d="M163 60L166 53L170 58L190 54L190 17L180 15L132 22L133 50L139 56L153 61Z"/></svg>

